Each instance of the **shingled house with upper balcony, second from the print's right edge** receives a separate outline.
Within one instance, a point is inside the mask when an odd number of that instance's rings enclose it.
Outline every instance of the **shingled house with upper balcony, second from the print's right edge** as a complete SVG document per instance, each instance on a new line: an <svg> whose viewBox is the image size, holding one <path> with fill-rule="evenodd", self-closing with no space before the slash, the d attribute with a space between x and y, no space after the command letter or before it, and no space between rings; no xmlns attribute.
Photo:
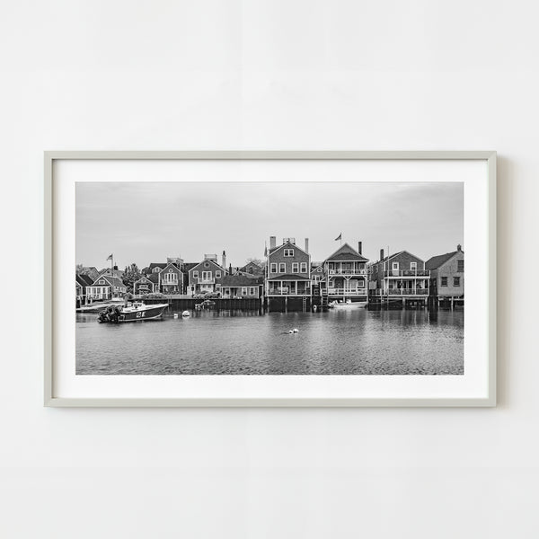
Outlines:
<svg viewBox="0 0 539 539"><path fill-rule="evenodd" d="M425 262L408 251L384 256L369 266L369 301L402 299L402 304L424 305L429 296L429 270Z"/></svg>

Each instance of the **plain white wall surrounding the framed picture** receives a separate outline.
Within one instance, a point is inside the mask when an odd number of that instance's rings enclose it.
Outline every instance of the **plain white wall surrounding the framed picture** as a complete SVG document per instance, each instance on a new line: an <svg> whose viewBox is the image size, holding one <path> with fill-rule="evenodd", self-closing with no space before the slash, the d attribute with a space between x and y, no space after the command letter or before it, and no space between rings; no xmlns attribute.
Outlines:
<svg viewBox="0 0 539 539"><path fill-rule="evenodd" d="M539 536L538 316L523 288L539 267L536 4L4 0L1 13L0 536ZM48 149L497 150L499 406L43 408Z"/></svg>

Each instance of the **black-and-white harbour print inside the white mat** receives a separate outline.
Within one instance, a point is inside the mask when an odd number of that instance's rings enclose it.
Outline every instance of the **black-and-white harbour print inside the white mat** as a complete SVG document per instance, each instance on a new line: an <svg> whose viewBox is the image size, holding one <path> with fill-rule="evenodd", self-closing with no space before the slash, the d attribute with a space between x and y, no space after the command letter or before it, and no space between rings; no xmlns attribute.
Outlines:
<svg viewBox="0 0 539 539"><path fill-rule="evenodd" d="M77 376L463 376L461 181L81 181Z"/></svg>

